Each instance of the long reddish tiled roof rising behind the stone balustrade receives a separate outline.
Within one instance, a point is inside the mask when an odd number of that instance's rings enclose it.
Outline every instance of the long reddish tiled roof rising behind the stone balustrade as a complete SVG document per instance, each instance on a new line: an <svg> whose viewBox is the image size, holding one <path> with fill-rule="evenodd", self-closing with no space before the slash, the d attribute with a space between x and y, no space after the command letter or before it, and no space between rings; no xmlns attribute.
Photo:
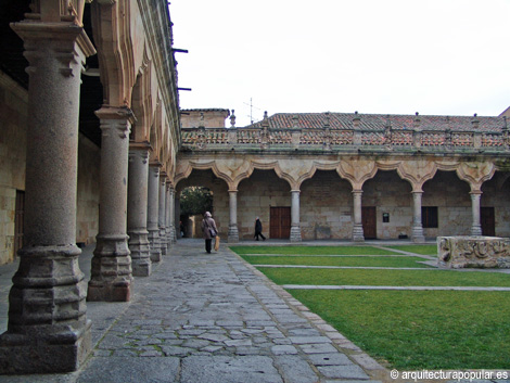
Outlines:
<svg viewBox="0 0 510 383"><path fill-rule="evenodd" d="M297 116L296 123L294 116ZM322 129L327 122L326 116L326 113L277 113L268 117L267 123L270 129L293 128L295 125L301 129ZM330 128L353 129L355 117L359 118L358 129L360 130L381 130L388 123L392 130L412 130L419 119L421 130L500 132L506 124L503 117L329 113ZM250 127L262 128L263 122Z"/></svg>

